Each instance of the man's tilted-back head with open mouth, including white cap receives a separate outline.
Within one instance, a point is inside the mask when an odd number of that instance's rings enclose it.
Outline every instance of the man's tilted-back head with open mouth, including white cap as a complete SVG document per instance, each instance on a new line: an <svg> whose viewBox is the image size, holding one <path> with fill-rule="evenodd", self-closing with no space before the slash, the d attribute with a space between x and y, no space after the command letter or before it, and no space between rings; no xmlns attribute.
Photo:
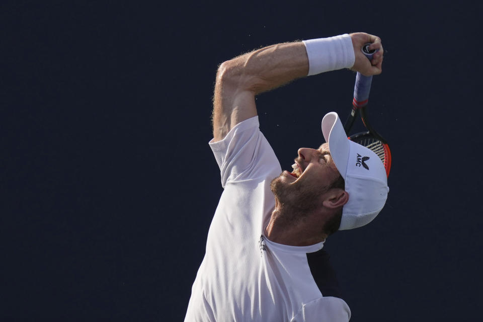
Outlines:
<svg viewBox="0 0 483 322"><path fill-rule="evenodd" d="M337 113L324 117L322 130L328 143L299 149L294 171L284 171L271 188L279 206L298 217L324 209L329 215L322 228L331 234L372 221L389 188L379 157L347 138Z"/></svg>

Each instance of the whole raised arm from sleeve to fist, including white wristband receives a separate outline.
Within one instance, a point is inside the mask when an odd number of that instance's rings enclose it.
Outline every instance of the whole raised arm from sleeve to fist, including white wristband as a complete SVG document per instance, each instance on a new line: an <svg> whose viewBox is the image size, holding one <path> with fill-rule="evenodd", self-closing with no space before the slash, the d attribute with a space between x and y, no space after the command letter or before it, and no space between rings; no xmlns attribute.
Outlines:
<svg viewBox="0 0 483 322"><path fill-rule="evenodd" d="M257 94L296 78L344 67L364 74L380 73L382 46L378 37L351 34L352 46L348 35L338 37L272 45L223 62L213 98L213 141L223 139L236 124L257 115ZM367 42L373 43L371 49L380 51L373 56L372 66L360 53Z"/></svg>

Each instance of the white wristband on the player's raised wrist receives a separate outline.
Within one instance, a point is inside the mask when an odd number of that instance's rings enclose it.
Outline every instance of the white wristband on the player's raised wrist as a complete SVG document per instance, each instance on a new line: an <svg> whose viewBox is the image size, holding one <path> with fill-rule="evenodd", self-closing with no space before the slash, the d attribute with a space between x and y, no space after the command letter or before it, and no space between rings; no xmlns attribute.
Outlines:
<svg viewBox="0 0 483 322"><path fill-rule="evenodd" d="M348 34L304 40L303 44L308 56L307 76L354 66L354 47Z"/></svg>

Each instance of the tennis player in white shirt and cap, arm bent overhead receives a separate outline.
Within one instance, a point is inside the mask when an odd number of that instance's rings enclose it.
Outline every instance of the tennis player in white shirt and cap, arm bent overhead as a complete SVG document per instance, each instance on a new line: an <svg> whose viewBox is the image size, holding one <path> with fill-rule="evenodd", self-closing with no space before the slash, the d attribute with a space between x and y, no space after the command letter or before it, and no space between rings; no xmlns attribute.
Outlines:
<svg viewBox="0 0 483 322"><path fill-rule="evenodd" d="M361 52L365 43L379 49L372 61ZM332 112L322 121L327 143L300 148L293 170L282 172L260 132L255 96L330 70L379 74L382 56L378 37L353 33L268 46L220 65L209 145L224 191L185 321L350 319L323 246L379 213L389 190L384 166L347 139Z"/></svg>

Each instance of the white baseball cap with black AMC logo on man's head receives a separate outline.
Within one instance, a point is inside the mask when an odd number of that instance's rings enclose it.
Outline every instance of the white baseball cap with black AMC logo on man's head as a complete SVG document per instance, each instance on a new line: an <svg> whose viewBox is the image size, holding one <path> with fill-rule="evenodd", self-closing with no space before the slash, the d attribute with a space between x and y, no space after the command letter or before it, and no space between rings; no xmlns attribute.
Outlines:
<svg viewBox="0 0 483 322"><path fill-rule="evenodd" d="M324 116L322 132L349 194L339 230L364 226L377 216L387 199L384 165L376 153L347 138L336 112Z"/></svg>

